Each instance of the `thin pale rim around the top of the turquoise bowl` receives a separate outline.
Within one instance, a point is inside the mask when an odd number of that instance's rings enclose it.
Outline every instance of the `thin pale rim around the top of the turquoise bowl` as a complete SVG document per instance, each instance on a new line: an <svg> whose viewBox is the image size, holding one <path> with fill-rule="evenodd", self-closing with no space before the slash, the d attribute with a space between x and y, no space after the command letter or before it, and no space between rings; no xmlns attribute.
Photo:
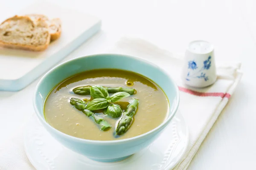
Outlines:
<svg viewBox="0 0 256 170"><path fill-rule="evenodd" d="M43 82L44 79L45 79L49 74L52 74L52 72L54 72L57 68L59 68L59 67L61 67L61 66L64 66L64 65L68 64L69 62L72 62L72 61L74 61L74 60L79 60L79 59L82 59L82 58L95 57L95 56L102 56L102 55L111 55L111 56L114 55L114 56L121 56L121 57L132 58L132 59L135 59L135 60L144 62L144 63L150 65L151 67L157 68L160 72L164 73L164 74L171 80L171 82L174 84L174 86L175 86L175 91L176 91L176 94L177 94L177 96L176 96L176 100L177 100L176 105L175 105L175 107L173 108L172 111L169 111L170 116L168 116L167 119L165 119L160 125L158 125L158 126L155 127L154 129L152 129L152 130L150 130L150 131L148 131L148 132L146 132L146 133L143 133L143 134L140 134L140 135L138 135L138 136L131 137L131 138L127 138L127 139L117 139L117 140L107 140L107 141L78 138L78 137L75 137L75 136L68 135L68 134L66 134L66 133L64 133L64 132L61 132L60 130L57 130L57 129L55 129L54 127L52 127L51 125L49 125L49 123L47 123L46 119L43 118L43 117L40 115L40 111L38 110L38 105L36 104L36 103L37 103L37 102L36 102L36 95L37 95L38 92L39 92L39 91L38 91L38 90L39 90L38 88L39 88L41 82ZM124 70L124 71L125 71L125 69L121 69L121 70ZM133 71L132 71L132 72L133 72ZM140 73L139 73L139 74L140 74ZM143 75L143 74L141 74L141 75ZM68 78L68 77L67 77L67 78ZM154 81L154 80L153 80L153 81ZM156 83L156 84L157 84L157 83ZM160 87L160 86L159 86L159 87ZM160 88L161 88L161 87L160 87ZM49 93L50 93L50 91L49 91ZM49 93L48 93L48 94L49 94ZM45 101L44 101L44 102L45 102ZM115 144L115 143L129 142L129 141L133 141L133 140L136 140L136 139L141 139L141 138L143 138L143 137L145 137L145 136L147 136L147 135L149 135L149 134L151 134L151 133L154 133L154 132L157 131L157 130L161 130L161 128L165 127L166 125L168 125L168 124L171 122L173 116L175 116L175 113L177 112L179 103L180 103L180 93L179 93L178 86L177 86L176 82L172 79L172 77L171 77L169 74L167 74L167 72L166 72L165 70L163 70L162 68L160 68L158 65L156 65L156 64L154 64L154 63L152 63L152 62L149 62L148 60L141 59L141 58L139 58L139 57L134 57L134 56L125 55L125 54L112 54L112 53L92 54L92 55L86 55L86 56L76 57L76 58L74 58L74 59L69 59L69 60L67 60L67 61L65 61L65 62L62 62L62 63L56 65L54 68L50 69L46 74L44 74L44 76L40 79L40 81L38 82L38 84L37 84L37 86L36 86L36 88L35 88L35 92L34 92L34 95L33 95L33 105L34 105L35 113L36 113L38 119L40 120L40 122L44 124L44 126L47 126L47 127L51 128L51 129L54 131L54 133L58 133L58 134L60 134L60 135L63 136L63 137L71 138L71 139L76 140L76 141L78 141L78 142L84 142L84 143L88 143L88 144L89 144L89 143L90 143L90 144L92 144L92 143L93 143L93 144ZM162 130L163 130L163 129L162 129Z"/></svg>

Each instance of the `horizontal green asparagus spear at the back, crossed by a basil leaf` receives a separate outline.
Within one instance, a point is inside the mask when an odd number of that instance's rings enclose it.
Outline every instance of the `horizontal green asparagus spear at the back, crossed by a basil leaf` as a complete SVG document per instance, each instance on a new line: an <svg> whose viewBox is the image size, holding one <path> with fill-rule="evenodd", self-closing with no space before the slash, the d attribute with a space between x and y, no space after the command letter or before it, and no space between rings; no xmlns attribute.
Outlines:
<svg viewBox="0 0 256 170"><path fill-rule="evenodd" d="M73 89L75 94L79 95L88 95L90 94L91 86L81 86ZM105 87L108 90L108 93L117 93L117 92L126 92L130 95L135 93L134 88L122 88L122 87Z"/></svg>

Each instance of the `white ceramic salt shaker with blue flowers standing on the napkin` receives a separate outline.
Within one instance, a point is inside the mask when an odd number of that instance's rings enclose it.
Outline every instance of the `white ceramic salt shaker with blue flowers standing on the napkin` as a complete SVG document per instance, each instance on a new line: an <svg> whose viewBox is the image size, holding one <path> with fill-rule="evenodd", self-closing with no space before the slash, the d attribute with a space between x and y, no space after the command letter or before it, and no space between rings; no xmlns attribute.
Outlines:
<svg viewBox="0 0 256 170"><path fill-rule="evenodd" d="M216 66L213 45L197 40L189 43L184 59L183 82L195 88L212 85L216 79Z"/></svg>

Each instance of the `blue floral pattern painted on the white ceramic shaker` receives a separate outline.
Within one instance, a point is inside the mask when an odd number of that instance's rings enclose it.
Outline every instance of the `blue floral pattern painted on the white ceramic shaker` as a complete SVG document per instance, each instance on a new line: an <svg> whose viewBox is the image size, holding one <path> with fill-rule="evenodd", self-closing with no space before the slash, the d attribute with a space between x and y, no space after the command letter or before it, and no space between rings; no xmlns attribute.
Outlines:
<svg viewBox="0 0 256 170"><path fill-rule="evenodd" d="M203 70L209 70L209 68L211 67L211 59L212 57L209 56L208 59L204 61L204 66L199 71L193 71L192 74L189 71L186 80L190 81L191 78L204 79L204 81L209 80L208 76L206 76ZM188 68L191 70L196 70L198 68L195 60L191 60L188 62Z"/></svg>

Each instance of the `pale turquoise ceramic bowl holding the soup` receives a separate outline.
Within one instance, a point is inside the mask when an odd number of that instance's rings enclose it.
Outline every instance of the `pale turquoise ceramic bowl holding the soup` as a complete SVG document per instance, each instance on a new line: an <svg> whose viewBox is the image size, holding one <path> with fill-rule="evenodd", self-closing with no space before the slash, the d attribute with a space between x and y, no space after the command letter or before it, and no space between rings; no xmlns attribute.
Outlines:
<svg viewBox="0 0 256 170"><path fill-rule="evenodd" d="M117 68L133 71L152 79L159 85L169 99L169 113L166 120L153 130L139 136L114 141L95 141L80 139L50 126L44 118L44 102L49 92L64 79L83 71L99 68ZM179 105L178 87L168 74L158 66L139 59L120 54L97 54L64 62L50 70L38 83L34 94L34 108L45 129L65 147L96 161L113 162L131 156L151 144L161 131L171 122ZM166 113L162 113L166 114Z"/></svg>

